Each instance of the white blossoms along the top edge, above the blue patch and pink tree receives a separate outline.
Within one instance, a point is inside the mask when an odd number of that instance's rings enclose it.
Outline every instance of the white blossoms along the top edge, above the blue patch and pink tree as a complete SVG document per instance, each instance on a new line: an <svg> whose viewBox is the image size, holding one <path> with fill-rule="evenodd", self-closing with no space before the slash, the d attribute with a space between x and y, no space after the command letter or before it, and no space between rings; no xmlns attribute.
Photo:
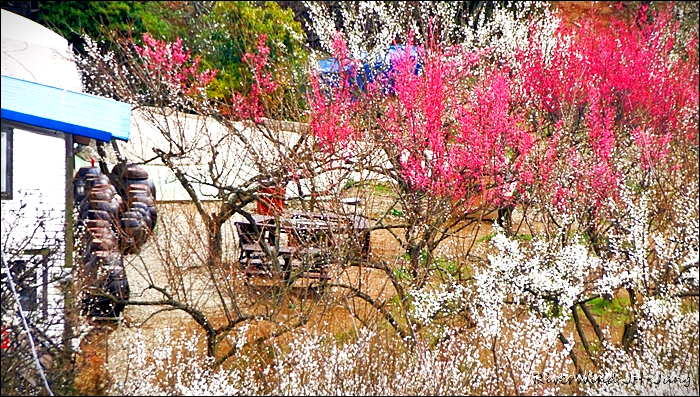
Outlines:
<svg viewBox="0 0 700 397"><path fill-rule="evenodd" d="M332 9L326 2L307 1L309 28L319 37L321 47L333 53L337 33ZM405 44L410 34L433 34L444 44L460 43L469 50L489 50L496 59L515 63L515 52L527 47L532 17L533 30L553 44L554 31L561 20L549 9L547 2L508 2L494 5L487 18L484 12L475 12L459 23L465 12L461 2L418 1L388 2L359 1L340 4L343 38L349 54L358 59L381 59L394 44ZM368 34L371 25L372 34ZM432 33L430 29L432 28ZM418 38L418 37L416 37ZM420 39L420 38L419 38ZM424 40L424 39L421 39ZM316 54L316 57L321 57Z"/></svg>

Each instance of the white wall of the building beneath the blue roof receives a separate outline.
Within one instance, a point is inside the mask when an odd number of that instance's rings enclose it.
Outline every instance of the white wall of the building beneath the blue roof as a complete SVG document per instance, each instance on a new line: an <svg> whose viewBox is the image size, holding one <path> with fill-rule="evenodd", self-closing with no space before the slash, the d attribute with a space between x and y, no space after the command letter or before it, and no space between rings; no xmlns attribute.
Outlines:
<svg viewBox="0 0 700 397"><path fill-rule="evenodd" d="M2 244L5 252L50 247L49 280L66 272L65 136L40 134L15 128L12 147L12 199L2 200ZM20 258L14 258L20 259ZM41 284L42 274L37 275ZM37 298L42 296L41 287ZM42 302L39 308L42 307ZM63 295L58 283L48 286L49 316L62 316ZM62 317L61 317L62 318ZM50 320L51 323L55 321ZM59 337L62 326L51 334Z"/></svg>

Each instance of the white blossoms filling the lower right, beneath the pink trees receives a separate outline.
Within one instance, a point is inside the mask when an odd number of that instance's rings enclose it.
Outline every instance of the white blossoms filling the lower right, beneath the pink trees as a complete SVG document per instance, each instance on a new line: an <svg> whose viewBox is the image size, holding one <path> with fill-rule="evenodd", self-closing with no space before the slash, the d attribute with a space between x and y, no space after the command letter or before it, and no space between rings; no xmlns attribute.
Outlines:
<svg viewBox="0 0 700 397"><path fill-rule="evenodd" d="M697 294L699 230L697 202L693 202L697 186L687 190L673 203L677 227L663 235L650 231L653 204L648 196L633 199L631 192L623 190L626 205L616 219L619 233L611 239L614 254L606 259L594 256L582 240L556 248L544 240L525 245L498 234L491 240L495 252L489 255L488 265L477 270L476 293L468 299L478 313L478 332L487 340L509 342L533 333L550 335L537 346L549 342L545 350L562 360L559 364L564 369L559 373L568 373L562 353L573 344L562 348L555 341L560 333L569 342L575 340L565 331L572 315L569 308L596 296L633 290L636 304L629 311L636 319L631 324L636 326L636 344L626 349L604 327L605 339L597 356L600 368L607 368L607 376L619 382L595 383L586 390L614 395L697 393L698 309L697 303L682 299L685 294ZM560 313L554 311L557 306ZM516 308L526 315L509 323ZM526 331L520 333L521 328ZM533 345L513 349L511 359L526 355L529 346ZM644 375L644 381L629 381L635 373Z"/></svg>

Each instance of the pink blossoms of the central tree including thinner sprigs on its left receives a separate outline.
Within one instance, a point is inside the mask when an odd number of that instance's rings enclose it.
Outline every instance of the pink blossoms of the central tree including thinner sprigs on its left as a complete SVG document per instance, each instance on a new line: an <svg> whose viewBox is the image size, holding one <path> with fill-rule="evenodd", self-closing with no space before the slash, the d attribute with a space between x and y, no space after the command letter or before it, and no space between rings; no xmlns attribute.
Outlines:
<svg viewBox="0 0 700 397"><path fill-rule="evenodd" d="M511 111L507 71L487 71L474 85L465 86L481 54L460 47L442 49L435 43L414 51L409 38L392 60L393 94L385 98L386 82L369 83L362 93L351 90L354 68L344 67L351 61L343 48L342 42L336 44L338 84L321 90L318 78L312 83L311 128L321 147L345 149L368 139L369 129L356 127L356 117L382 104L377 127L413 189L469 203L500 205L512 200L533 138ZM525 177L531 178L531 173Z"/></svg>

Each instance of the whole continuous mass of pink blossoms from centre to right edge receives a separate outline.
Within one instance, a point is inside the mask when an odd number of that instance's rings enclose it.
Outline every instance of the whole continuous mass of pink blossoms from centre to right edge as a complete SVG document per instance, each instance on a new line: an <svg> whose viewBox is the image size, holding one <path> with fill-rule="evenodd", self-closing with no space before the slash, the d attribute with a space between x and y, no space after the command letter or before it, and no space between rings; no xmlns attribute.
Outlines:
<svg viewBox="0 0 700 397"><path fill-rule="evenodd" d="M531 31L514 65L433 42L416 58L409 38L389 95L378 83L351 90L337 37L340 78L324 89L313 80L312 130L325 150L389 142L413 189L468 207L525 195L595 215L624 176L677 169L683 155L670 151L698 145L697 37L679 50L671 12L646 12L609 25L584 19L548 42Z"/></svg>

